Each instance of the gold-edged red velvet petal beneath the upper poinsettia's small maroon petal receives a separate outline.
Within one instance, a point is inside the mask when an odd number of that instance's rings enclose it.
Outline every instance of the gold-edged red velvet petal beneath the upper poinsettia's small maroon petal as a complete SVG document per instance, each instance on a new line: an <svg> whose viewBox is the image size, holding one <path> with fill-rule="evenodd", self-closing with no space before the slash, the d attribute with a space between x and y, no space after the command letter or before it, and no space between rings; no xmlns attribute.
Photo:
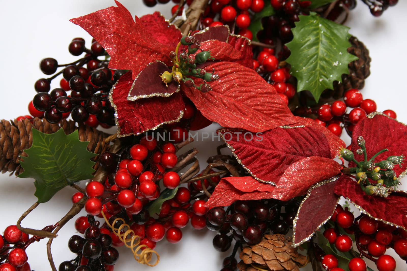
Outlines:
<svg viewBox="0 0 407 271"><path fill-rule="evenodd" d="M163 124L179 121L184 115L184 102L180 93L174 93L168 98L128 101L127 93L132 83L131 72L128 72L118 80L109 94L109 100L115 108L118 137L154 130Z"/></svg>

